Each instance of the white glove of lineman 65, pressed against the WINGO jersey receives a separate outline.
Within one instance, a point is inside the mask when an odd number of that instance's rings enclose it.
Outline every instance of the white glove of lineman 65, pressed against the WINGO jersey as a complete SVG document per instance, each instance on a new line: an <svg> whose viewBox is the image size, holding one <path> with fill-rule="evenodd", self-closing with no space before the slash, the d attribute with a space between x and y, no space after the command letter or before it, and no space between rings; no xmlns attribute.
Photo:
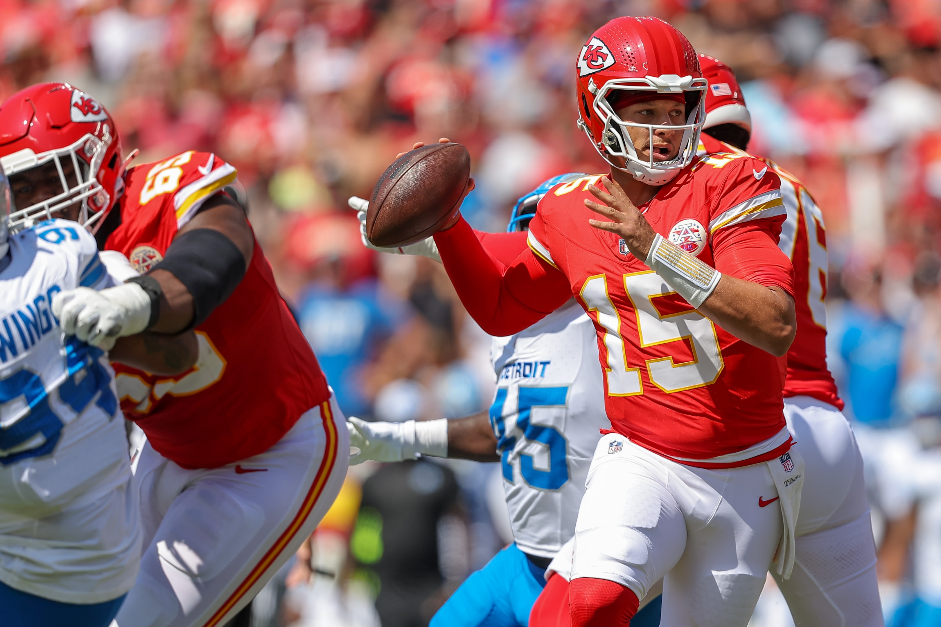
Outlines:
<svg viewBox="0 0 941 627"><path fill-rule="evenodd" d="M53 296L53 315L67 336L75 336L105 351L118 337L133 336L151 321L151 297L136 283L95 291L60 291Z"/></svg>

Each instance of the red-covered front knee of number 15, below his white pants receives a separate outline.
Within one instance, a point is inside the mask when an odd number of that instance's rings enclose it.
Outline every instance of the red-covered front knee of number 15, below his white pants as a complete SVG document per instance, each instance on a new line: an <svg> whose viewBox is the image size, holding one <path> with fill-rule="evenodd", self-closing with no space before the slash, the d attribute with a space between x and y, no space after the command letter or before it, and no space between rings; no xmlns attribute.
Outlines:
<svg viewBox="0 0 941 627"><path fill-rule="evenodd" d="M640 599L613 581L579 577L568 585L568 603L571 627L627 627Z"/></svg>

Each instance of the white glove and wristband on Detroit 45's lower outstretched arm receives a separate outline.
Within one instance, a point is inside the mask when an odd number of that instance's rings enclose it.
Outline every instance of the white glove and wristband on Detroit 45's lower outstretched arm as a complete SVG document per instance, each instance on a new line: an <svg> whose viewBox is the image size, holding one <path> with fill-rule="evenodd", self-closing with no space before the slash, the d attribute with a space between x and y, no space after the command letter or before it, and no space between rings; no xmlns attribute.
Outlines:
<svg viewBox="0 0 941 627"><path fill-rule="evenodd" d="M350 447L359 453L350 455L356 465L366 460L401 462L417 460L421 455L448 456L448 421L407 420L406 422L366 422L355 415L346 418Z"/></svg>

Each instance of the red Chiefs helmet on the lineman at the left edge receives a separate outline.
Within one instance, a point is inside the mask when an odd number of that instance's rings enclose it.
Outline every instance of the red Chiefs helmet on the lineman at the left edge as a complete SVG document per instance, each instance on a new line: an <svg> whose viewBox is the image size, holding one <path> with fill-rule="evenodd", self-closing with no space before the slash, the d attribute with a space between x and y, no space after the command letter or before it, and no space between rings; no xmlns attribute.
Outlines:
<svg viewBox="0 0 941 627"><path fill-rule="evenodd" d="M62 192L11 212L11 229L28 227L81 202L92 233L123 190L124 162L114 120L88 94L66 83L26 87L0 104L0 165L8 178L45 168Z"/></svg>

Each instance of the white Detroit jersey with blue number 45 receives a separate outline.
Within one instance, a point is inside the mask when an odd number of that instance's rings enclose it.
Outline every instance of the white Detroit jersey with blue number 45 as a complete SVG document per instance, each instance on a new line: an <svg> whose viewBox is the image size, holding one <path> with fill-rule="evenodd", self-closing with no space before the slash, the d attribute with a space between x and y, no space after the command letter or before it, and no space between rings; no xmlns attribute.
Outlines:
<svg viewBox="0 0 941 627"><path fill-rule="evenodd" d="M510 337L494 337L490 424L521 551L552 557L575 534L600 429L610 429L595 327L574 300Z"/></svg>

